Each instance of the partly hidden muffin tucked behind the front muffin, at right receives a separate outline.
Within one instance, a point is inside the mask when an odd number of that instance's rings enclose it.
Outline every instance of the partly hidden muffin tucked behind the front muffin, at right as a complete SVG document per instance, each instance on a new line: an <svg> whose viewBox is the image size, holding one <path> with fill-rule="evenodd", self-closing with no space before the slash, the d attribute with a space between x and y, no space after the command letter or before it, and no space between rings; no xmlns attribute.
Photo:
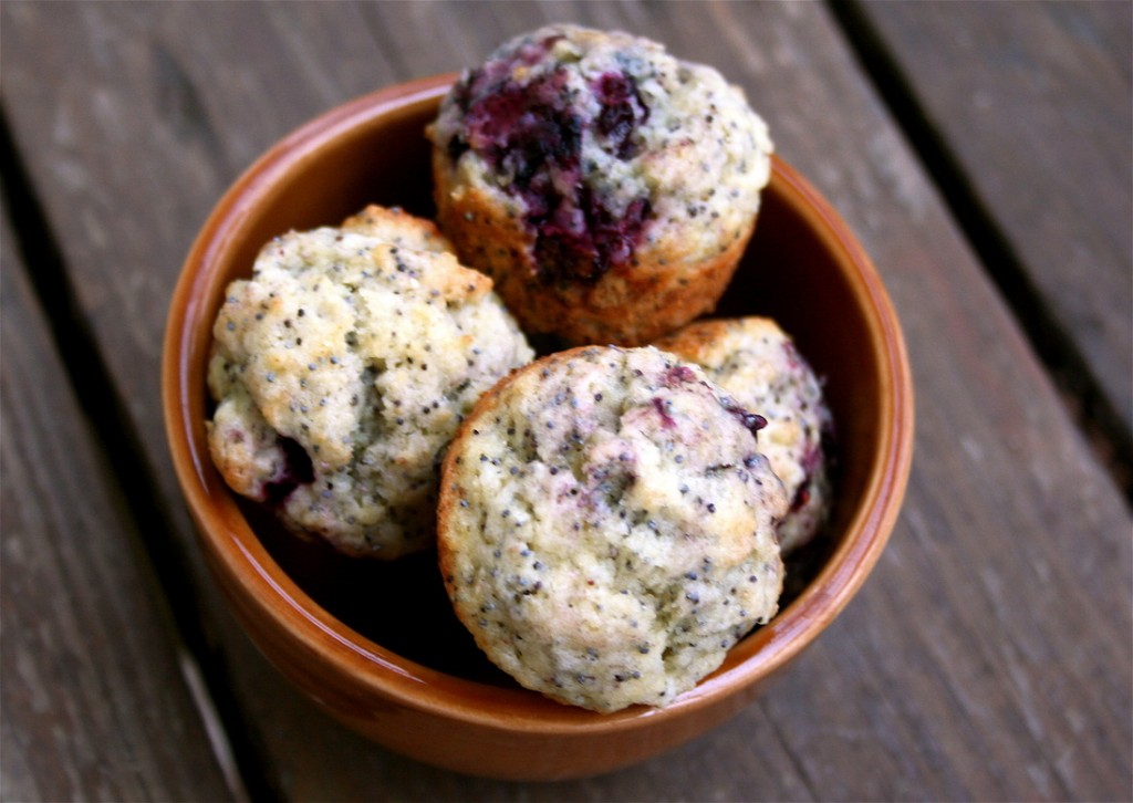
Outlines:
<svg viewBox="0 0 1133 803"><path fill-rule="evenodd" d="M829 514L833 420L821 384L791 338L769 318L748 317L697 322L656 345L699 365L736 403L767 420L759 450L791 498L780 545L786 554L808 543Z"/></svg>

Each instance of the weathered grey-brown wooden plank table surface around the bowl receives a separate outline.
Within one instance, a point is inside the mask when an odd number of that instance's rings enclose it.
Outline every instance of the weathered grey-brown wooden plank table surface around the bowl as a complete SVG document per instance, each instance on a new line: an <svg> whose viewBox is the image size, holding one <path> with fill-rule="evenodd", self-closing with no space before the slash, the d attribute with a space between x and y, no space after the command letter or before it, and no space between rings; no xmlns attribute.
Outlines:
<svg viewBox="0 0 1133 803"><path fill-rule="evenodd" d="M1131 5L40 3L2 32L3 800L1131 800ZM364 741L204 571L159 405L195 232L273 140L548 19L718 67L902 317L909 494L740 716L561 784Z"/></svg>

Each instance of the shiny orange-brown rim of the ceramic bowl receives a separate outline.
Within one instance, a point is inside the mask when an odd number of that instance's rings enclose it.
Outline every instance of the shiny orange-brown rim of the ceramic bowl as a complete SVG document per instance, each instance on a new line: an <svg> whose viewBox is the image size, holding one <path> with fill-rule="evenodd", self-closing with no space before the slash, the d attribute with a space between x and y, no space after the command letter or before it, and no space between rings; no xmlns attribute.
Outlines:
<svg viewBox="0 0 1133 803"><path fill-rule="evenodd" d="M220 258L238 238L249 210L270 199L278 181L344 135L375 126L391 113L436 103L455 79L443 74L409 80L334 106L301 125L261 155L229 187L210 213L182 265L168 315L162 354L162 408L174 471L197 540L220 583L238 606L289 632L312 653L323 656L342 677L373 692L375 700L427 709L436 715L488 727L528 733L628 731L683 717L732 693L753 686L799 655L842 612L877 563L908 485L913 446L913 388L909 357L896 311L872 262L833 206L793 168L773 156L777 182L798 214L808 216L824 246L853 271L852 292L868 311L871 342L880 344L879 371L888 392L881 394L876 449L862 502L846 522L844 538L817 576L786 608L732 648L724 665L665 708L634 706L597 714L564 706L523 689L493 686L449 675L397 656L337 620L304 591L271 557L239 514L207 453L195 447L194 433L204 428L203 399L190 398L201 386L193 371L194 327L201 325L204 300L220 282ZM211 326L211 321L204 321ZM202 442L197 438L197 442ZM885 504L878 504L885 501ZM225 582L227 580L227 582ZM247 598L236 599L229 582L240 583ZM273 604L274 603L274 604ZM247 612L240 612L247 613Z"/></svg>

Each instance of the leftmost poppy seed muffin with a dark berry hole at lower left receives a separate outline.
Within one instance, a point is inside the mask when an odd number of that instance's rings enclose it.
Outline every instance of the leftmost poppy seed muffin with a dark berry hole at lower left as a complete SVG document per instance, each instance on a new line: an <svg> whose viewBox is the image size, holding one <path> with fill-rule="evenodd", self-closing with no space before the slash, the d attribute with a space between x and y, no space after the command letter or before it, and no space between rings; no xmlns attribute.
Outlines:
<svg viewBox="0 0 1133 803"><path fill-rule="evenodd" d="M534 357L488 277L390 242L443 247L431 227L372 207L279 237L213 328L208 445L224 480L351 555L435 544L449 441Z"/></svg>

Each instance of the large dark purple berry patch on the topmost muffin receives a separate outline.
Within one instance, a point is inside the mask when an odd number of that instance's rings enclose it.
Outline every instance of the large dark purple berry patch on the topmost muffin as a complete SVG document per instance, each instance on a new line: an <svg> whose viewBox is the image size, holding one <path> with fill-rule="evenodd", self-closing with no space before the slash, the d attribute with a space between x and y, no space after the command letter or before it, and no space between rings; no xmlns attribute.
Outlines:
<svg viewBox="0 0 1133 803"><path fill-rule="evenodd" d="M534 65L553 43L554 37L528 43L469 74L455 91L465 116L448 152L457 160L474 151L523 200L538 279L595 282L632 262L651 208L648 197L638 197L615 212L613 199L591 186L583 137L589 133L616 159L633 159L640 150L633 135L649 110L623 72L604 72L588 84L598 101L596 116L583 114L565 68L525 83L513 79L517 67Z"/></svg>

